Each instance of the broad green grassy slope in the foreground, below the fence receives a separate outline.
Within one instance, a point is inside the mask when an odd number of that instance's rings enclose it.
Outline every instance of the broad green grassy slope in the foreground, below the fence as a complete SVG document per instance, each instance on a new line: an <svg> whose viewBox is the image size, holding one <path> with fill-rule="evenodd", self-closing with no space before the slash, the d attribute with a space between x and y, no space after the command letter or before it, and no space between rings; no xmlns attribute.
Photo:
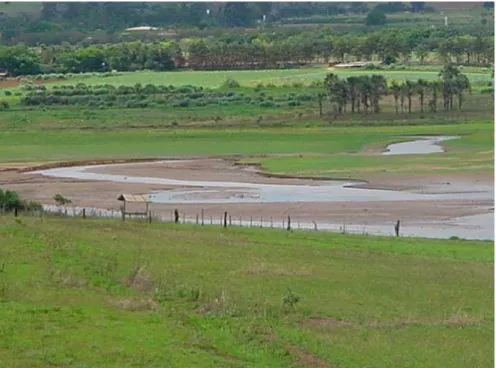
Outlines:
<svg viewBox="0 0 496 368"><path fill-rule="evenodd" d="M490 242L3 216L0 244L2 366L493 365Z"/></svg>

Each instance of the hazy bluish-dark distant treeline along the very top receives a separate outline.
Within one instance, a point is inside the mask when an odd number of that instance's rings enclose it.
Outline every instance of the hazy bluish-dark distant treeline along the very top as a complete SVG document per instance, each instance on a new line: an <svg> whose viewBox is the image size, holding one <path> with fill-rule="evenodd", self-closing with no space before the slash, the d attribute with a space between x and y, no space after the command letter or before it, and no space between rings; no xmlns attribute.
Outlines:
<svg viewBox="0 0 496 368"><path fill-rule="evenodd" d="M429 7L427 7L429 8ZM389 2L375 11L424 11L423 2ZM62 3L44 2L38 17L25 15L5 29L9 33L51 32L54 30L122 31L143 24L159 27L252 27L258 22L321 15L361 14L371 7L361 2L181 2L181 3ZM32 13L32 12L31 12ZM19 22L22 20L22 23Z"/></svg>

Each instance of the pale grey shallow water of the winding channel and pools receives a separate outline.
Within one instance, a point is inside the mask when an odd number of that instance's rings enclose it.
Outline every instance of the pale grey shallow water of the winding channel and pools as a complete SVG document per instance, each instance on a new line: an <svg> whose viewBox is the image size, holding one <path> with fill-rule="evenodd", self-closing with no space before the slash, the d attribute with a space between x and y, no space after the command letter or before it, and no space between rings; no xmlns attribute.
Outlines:
<svg viewBox="0 0 496 368"><path fill-rule="evenodd" d="M422 138L417 141L396 143L388 146L384 154L425 154L442 152L440 142L457 137ZM174 161L178 163L178 161ZM168 161L163 161L167 164ZM133 164L139 165L139 164ZM463 193L420 194L407 191L375 190L359 188L359 182L328 181L315 185L255 184L220 181L172 180L155 177L111 175L91 172L95 168L110 165L57 168L35 172L45 176L80 180L113 181L120 183L144 183L167 186L201 187L201 189L176 189L150 193L155 203L177 204L221 204L221 203L276 203L276 202L374 202L409 200L493 200L494 189L488 186L466 188ZM486 213L478 217L452 219L435 224L404 224L403 235L425 237L458 236L472 239L494 239L494 215ZM302 228L313 228L313 224L301 223ZM320 225L320 229L337 230L340 224ZM348 232L392 235L392 225L364 226L349 224Z"/></svg>

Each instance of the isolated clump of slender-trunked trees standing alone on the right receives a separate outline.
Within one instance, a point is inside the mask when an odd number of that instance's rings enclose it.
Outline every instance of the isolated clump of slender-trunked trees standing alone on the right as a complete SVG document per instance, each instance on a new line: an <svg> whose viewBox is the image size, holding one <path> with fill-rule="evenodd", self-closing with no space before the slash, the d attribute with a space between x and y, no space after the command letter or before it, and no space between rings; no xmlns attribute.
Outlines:
<svg viewBox="0 0 496 368"><path fill-rule="evenodd" d="M332 109L336 114L346 112L379 113L380 101L384 96L393 96L396 113L412 113L413 98L418 99L420 112L425 111L425 103L429 110L438 111L439 101L442 101L444 111L460 109L463 105L464 92L470 90L470 83L466 75L447 65L439 73L440 79L417 82L397 82L388 86L382 75L358 76L340 79L335 74L328 74L324 81ZM455 97L457 104L454 103Z"/></svg>

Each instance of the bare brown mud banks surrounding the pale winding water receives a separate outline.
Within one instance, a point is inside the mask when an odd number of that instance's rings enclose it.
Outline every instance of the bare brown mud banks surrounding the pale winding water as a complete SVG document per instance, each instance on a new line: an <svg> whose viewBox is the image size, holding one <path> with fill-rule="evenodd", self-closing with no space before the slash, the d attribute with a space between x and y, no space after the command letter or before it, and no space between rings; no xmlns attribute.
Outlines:
<svg viewBox="0 0 496 368"><path fill-rule="evenodd" d="M223 159L176 160L162 162L142 162L137 159L129 163L127 160L94 160L72 163L50 163L41 168L60 166L123 163L105 168L94 168L97 173L147 176L178 180L226 181L267 184L304 184L318 185L324 181L267 178L257 173L256 167L233 165L233 161ZM4 169L3 171L1 169ZM178 189L178 187L155 185L115 183L106 181L83 181L75 179L51 178L30 174L31 164L21 167L4 165L0 167L0 186L4 189L15 190L26 199L44 204L54 204L53 196L61 194L72 200L73 205L80 207L97 207L102 209L119 210L121 202L117 197L122 193L145 194L152 191ZM202 213L205 223L210 218L217 222L224 211L228 211L233 224L239 220L252 219L254 226L260 220L273 220L280 223L288 215L292 218L293 228L298 222L318 223L355 223L364 225L391 223L401 219L402 223L425 224L436 221L446 221L454 217L462 217L486 213L487 207L494 207L492 199L465 200L463 192L477 190L480 186L487 189L494 185L490 174L477 175L441 175L428 173L417 176L399 176L391 173L381 173L366 178L368 181L357 184L362 188L409 190L422 193L460 193L460 199L450 201L382 201L382 202L295 202L295 203L227 203L227 204L159 204L153 203L150 210L154 215L170 218L175 208L179 209L181 217L186 215L190 220ZM349 179L348 179L349 180ZM189 187L188 189L191 189ZM231 188L226 188L230 190Z"/></svg>

